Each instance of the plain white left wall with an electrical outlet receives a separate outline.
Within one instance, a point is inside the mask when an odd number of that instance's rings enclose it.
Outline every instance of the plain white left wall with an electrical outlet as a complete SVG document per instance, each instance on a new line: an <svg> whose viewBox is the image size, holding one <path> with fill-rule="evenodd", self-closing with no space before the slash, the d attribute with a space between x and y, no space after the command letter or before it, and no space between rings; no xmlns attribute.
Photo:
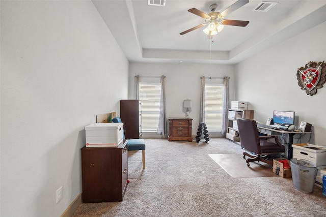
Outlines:
<svg viewBox="0 0 326 217"><path fill-rule="evenodd" d="M84 127L119 114L128 67L91 1L1 1L1 216L60 216L82 192Z"/></svg>

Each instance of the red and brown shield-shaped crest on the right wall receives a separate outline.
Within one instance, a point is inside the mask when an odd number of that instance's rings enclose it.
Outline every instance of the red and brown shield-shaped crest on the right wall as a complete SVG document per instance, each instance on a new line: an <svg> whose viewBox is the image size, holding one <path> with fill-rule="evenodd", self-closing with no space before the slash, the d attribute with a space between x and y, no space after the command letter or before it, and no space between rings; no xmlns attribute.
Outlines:
<svg viewBox="0 0 326 217"><path fill-rule="evenodd" d="M326 81L326 64L324 61L318 64L309 62L297 70L296 79L301 89L306 90L307 95L313 96Z"/></svg>

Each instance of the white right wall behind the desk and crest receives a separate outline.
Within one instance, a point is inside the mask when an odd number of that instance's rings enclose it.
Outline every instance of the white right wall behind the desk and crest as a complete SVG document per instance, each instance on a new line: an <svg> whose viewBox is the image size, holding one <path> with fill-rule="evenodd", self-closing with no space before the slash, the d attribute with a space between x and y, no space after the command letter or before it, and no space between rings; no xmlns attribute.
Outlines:
<svg viewBox="0 0 326 217"><path fill-rule="evenodd" d="M295 111L297 121L313 125L315 138L310 142L326 145L326 83L308 96L296 79L298 68L326 61L325 35L326 22L238 64L235 99L249 101L258 121L265 122L273 110Z"/></svg>

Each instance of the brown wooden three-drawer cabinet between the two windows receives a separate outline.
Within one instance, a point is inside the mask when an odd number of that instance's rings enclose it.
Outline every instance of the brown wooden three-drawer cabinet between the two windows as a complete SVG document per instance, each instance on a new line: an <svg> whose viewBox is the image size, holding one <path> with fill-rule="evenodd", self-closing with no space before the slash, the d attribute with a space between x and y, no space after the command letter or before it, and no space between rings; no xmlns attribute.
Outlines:
<svg viewBox="0 0 326 217"><path fill-rule="evenodd" d="M193 141L192 118L169 118L169 141Z"/></svg>

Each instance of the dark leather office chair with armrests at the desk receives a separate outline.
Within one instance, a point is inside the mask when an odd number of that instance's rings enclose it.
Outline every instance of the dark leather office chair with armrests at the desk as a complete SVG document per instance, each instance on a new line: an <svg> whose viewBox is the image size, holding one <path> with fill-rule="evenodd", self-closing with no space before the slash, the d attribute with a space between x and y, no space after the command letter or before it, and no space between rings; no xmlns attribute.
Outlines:
<svg viewBox="0 0 326 217"><path fill-rule="evenodd" d="M273 165L273 155L284 153L285 148L279 142L277 136L259 136L258 128L255 120L247 118L237 118L237 125L240 136L241 147L247 151L252 152L250 154L246 151L243 152L243 158L246 156L250 157L246 160L247 166L249 167L249 162L262 161L264 163ZM267 139L274 139L273 141L268 141Z"/></svg>

